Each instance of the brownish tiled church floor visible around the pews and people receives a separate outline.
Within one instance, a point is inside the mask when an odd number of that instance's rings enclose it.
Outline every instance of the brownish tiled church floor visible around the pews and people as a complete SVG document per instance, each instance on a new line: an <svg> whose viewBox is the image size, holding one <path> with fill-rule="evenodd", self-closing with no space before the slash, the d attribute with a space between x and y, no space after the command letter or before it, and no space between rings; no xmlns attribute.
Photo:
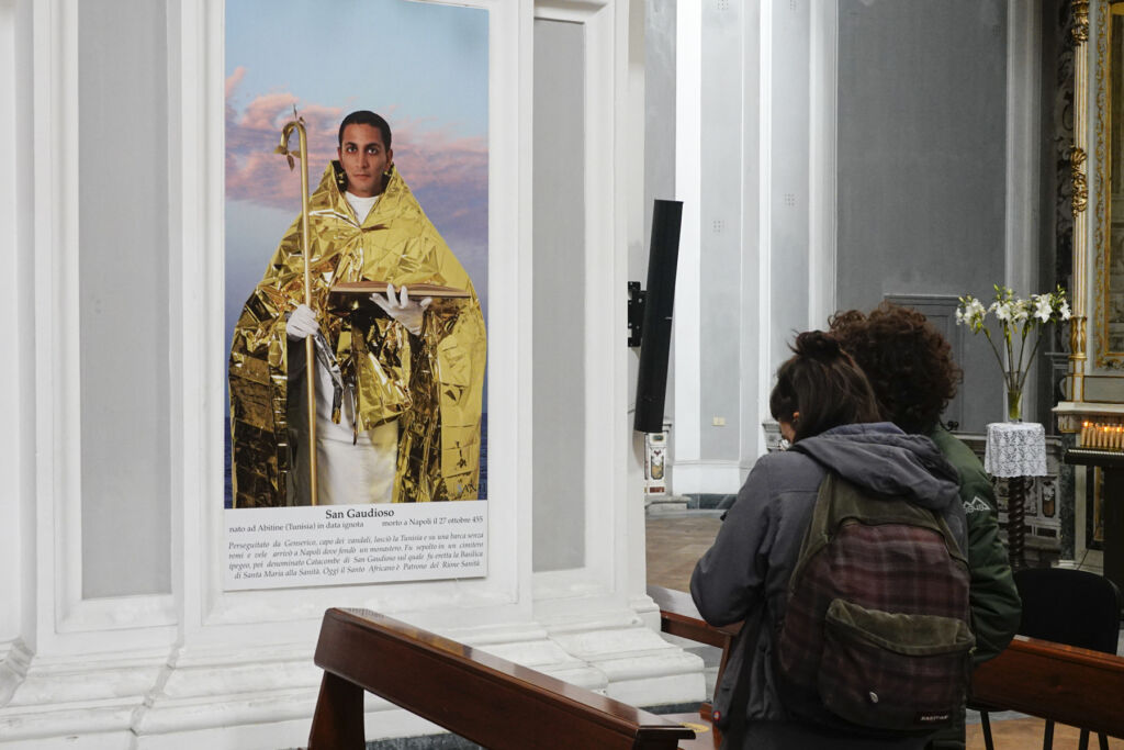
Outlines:
<svg viewBox="0 0 1124 750"><path fill-rule="evenodd" d="M667 588L688 590L695 561L709 549L722 521L719 512L660 510L650 508L647 515L647 582ZM968 747L984 748L984 734L978 714L969 713ZM997 750L1022 750L1042 747L1044 722L1041 719L1005 713L992 715L991 733ZM1057 750L1076 748L1078 730L1071 726L1054 728ZM1093 738L1090 746L1096 748ZM1124 740L1109 739L1108 747L1124 750Z"/></svg>

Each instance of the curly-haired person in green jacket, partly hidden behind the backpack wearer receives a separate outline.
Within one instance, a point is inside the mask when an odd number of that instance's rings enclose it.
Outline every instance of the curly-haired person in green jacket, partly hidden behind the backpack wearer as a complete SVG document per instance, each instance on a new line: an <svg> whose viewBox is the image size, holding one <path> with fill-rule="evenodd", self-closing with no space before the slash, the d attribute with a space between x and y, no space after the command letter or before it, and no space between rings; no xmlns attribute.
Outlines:
<svg viewBox="0 0 1124 750"><path fill-rule="evenodd" d="M869 314L837 313L831 331L867 373L882 418L907 433L928 436L960 472L979 666L1007 648L1018 627L1022 603L999 539L991 482L971 449L941 424L941 414L955 397L963 374L952 360L952 347L924 315L891 302ZM963 748L963 722L930 747Z"/></svg>

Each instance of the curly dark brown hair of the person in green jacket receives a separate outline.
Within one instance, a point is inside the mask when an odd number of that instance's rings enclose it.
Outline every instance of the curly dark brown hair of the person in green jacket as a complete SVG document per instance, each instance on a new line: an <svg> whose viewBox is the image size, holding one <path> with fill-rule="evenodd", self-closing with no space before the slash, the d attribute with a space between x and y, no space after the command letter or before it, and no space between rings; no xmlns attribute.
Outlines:
<svg viewBox="0 0 1124 750"><path fill-rule="evenodd" d="M941 332L917 310L892 302L869 315L836 313L830 323L867 373L882 418L907 433L932 432L963 378Z"/></svg>

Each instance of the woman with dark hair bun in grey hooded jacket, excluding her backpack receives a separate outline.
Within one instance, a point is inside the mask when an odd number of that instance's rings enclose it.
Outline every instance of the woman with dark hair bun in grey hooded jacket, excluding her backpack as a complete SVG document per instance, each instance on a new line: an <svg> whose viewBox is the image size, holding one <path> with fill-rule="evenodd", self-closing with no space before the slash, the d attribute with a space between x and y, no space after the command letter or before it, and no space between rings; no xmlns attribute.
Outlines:
<svg viewBox="0 0 1124 750"><path fill-rule="evenodd" d="M927 437L879 422L870 382L831 334L797 336L769 398L781 433L799 450L761 457L714 545L691 576L691 596L711 625L744 621L715 688L723 748L922 748L926 738L840 737L786 711L771 652L792 567L819 485L832 471L861 489L942 516L963 549L957 470Z"/></svg>

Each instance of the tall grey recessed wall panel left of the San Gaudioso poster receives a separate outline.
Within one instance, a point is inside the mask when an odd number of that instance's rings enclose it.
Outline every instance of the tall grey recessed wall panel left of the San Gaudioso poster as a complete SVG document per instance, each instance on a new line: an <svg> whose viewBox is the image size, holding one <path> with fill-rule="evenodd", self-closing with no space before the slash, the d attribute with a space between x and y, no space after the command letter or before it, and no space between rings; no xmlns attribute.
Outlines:
<svg viewBox="0 0 1124 750"><path fill-rule="evenodd" d="M78 3L83 598L171 593L165 16Z"/></svg>

